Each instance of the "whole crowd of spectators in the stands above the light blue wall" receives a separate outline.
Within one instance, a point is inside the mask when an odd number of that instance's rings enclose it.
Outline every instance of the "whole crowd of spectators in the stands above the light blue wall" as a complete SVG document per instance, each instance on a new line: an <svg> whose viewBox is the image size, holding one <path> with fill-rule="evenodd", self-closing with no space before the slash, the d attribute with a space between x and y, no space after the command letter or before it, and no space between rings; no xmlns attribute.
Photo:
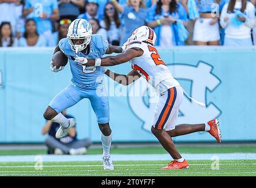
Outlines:
<svg viewBox="0 0 256 188"><path fill-rule="evenodd" d="M0 0L0 46L56 46L69 24L122 45L148 25L157 46L256 45L256 0Z"/></svg>

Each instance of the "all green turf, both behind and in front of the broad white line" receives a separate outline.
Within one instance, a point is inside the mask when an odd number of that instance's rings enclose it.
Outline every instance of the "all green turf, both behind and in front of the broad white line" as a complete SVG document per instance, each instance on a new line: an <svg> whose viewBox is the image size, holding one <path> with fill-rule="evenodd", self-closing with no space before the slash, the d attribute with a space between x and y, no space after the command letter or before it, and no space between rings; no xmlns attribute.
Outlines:
<svg viewBox="0 0 256 188"><path fill-rule="evenodd" d="M255 145L179 145L181 153L256 153ZM102 149L88 149L88 155ZM162 147L113 147L112 154L164 154ZM46 150L0 150L0 156L45 155ZM101 162L1 162L0 176L256 176L255 160L220 160L212 169L212 160L188 160L189 169L161 170L169 161L114 161L115 170L104 171Z"/></svg>

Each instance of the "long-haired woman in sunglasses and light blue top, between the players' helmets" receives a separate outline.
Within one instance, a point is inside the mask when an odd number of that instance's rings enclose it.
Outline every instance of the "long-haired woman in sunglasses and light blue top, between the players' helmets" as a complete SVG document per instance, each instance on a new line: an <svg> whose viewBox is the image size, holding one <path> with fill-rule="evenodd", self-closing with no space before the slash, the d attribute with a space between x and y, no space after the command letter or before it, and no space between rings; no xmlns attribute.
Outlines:
<svg viewBox="0 0 256 188"><path fill-rule="evenodd" d="M105 5L104 20L102 20L100 24L108 33L109 43L119 46L121 21L118 16L118 11L112 2L108 2Z"/></svg>

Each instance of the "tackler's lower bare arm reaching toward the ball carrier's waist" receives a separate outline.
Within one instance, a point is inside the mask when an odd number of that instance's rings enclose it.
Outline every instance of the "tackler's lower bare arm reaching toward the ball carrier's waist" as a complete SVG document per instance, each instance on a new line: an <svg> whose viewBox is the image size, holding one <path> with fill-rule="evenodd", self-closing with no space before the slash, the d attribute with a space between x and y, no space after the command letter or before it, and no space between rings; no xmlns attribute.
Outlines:
<svg viewBox="0 0 256 188"><path fill-rule="evenodd" d="M121 83L124 86L131 84L141 77L141 75L139 75L139 73L135 70L129 72L128 75L119 75L118 73L114 73L111 70L107 70L105 74L108 75L109 78L115 80L115 82Z"/></svg>

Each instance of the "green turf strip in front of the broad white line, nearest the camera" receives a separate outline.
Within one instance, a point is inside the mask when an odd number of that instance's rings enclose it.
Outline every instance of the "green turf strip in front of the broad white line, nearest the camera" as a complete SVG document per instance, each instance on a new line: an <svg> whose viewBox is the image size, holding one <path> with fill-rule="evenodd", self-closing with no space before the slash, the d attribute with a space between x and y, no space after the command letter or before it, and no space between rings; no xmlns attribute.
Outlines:
<svg viewBox="0 0 256 188"><path fill-rule="evenodd" d="M103 170L101 162L0 163L0 176L256 176L256 160L221 160L211 169L211 160L191 160L189 169L161 170L168 161L114 162L115 170Z"/></svg>

